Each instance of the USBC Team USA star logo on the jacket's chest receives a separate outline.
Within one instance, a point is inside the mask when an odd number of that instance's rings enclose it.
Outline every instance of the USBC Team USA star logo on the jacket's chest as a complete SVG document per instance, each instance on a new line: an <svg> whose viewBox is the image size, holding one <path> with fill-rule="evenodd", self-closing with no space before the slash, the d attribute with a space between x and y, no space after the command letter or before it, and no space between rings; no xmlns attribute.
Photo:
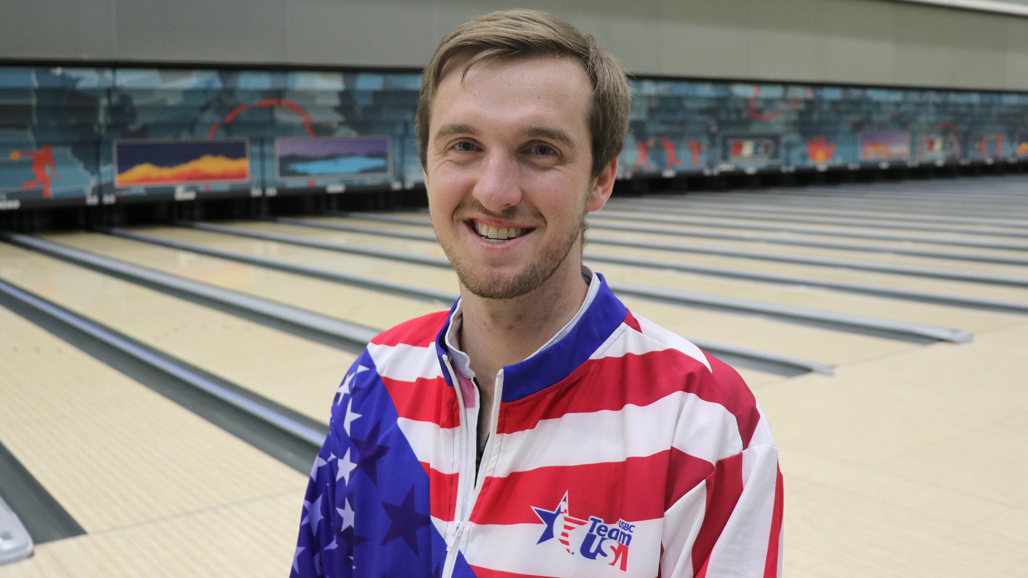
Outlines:
<svg viewBox="0 0 1028 578"><path fill-rule="evenodd" d="M546 525L537 544L557 538L568 554L582 555L591 561L611 559L608 566L628 571L628 547L635 532L634 523L619 519L617 523L608 525L601 517L575 517L568 513L567 492L553 510L538 506L531 506L531 509Z"/></svg>

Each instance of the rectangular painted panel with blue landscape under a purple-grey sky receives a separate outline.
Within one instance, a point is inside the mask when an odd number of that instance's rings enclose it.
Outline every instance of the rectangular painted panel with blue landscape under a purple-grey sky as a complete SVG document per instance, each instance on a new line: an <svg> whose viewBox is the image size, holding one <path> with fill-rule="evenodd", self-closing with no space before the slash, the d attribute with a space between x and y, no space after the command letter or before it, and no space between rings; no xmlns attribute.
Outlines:
<svg viewBox="0 0 1028 578"><path fill-rule="evenodd" d="M389 137L274 140L279 179L338 179L390 174Z"/></svg>

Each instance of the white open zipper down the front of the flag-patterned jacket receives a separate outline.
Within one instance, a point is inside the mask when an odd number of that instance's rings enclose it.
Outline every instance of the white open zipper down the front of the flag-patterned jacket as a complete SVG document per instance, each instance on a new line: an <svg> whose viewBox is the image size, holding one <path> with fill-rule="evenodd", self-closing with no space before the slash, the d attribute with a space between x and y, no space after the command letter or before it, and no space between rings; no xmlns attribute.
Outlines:
<svg viewBox="0 0 1028 578"><path fill-rule="evenodd" d="M485 442L485 449L482 451L482 471L477 471L475 468L475 454L477 451L477 446L475 445L475 440L477 439L477 430L470 431L470 424L467 420L467 410L464 405L464 396L461 392L461 385L456 381L456 374L453 372L453 367L450 365L449 356L443 354L443 363L446 365L446 369L449 371L450 381L453 383L456 391L457 407L461 410L461 427L460 427L460 438L458 441L461 446L461 469L457 474L457 489L456 489L456 506L457 511L454 512L454 518L456 523L453 526L453 539L446 546L446 562L443 565L442 578L452 578L453 569L456 567L456 556L461 551L461 543L465 541L465 531L468 528L468 519L471 517L471 510L474 509L475 503L478 502L478 493L482 491L482 482L485 480L485 469L487 469L487 464L491 461L492 447L494 445L494 440L497 438L497 420L500 413L500 399L503 397L503 386L504 386L504 370L501 369L497 373L495 385L493 386L492 392L492 407L489 408L489 438ZM470 444L470 445L469 445Z"/></svg>

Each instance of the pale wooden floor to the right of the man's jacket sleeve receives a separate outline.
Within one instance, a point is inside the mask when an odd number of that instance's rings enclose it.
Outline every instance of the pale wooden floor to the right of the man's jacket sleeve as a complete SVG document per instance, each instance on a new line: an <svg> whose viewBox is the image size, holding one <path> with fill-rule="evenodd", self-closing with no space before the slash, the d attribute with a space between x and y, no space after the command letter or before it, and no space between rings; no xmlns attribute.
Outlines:
<svg viewBox="0 0 1028 578"><path fill-rule="evenodd" d="M1028 568L1028 323L755 388L785 479L784 575Z"/></svg>

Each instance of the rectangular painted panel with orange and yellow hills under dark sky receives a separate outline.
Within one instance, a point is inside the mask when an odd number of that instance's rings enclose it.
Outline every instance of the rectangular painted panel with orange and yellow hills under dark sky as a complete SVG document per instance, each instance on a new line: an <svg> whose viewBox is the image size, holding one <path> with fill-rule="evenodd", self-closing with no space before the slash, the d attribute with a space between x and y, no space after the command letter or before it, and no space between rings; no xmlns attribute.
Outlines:
<svg viewBox="0 0 1028 578"><path fill-rule="evenodd" d="M250 182L246 139L114 141L114 184L119 188Z"/></svg>

